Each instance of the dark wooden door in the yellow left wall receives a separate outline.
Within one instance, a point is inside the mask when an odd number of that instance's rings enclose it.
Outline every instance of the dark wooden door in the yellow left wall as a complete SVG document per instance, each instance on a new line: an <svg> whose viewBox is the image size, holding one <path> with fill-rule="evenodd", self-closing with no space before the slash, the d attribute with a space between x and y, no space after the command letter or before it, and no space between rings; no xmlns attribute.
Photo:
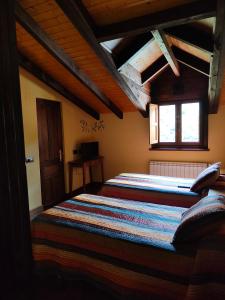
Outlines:
<svg viewBox="0 0 225 300"><path fill-rule="evenodd" d="M65 197L60 103L37 99L41 193L44 207Z"/></svg>

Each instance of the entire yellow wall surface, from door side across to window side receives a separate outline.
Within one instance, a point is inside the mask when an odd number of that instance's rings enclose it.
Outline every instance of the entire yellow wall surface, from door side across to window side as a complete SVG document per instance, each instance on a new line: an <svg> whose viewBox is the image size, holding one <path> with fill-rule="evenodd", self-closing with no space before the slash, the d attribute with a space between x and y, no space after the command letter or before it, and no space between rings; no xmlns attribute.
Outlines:
<svg viewBox="0 0 225 300"><path fill-rule="evenodd" d="M57 100L62 103L62 121L65 155L66 191L68 191L67 162L74 158L73 149L82 141L98 140L100 154L104 155L105 178L121 172L148 172L149 160L173 161L221 161L225 168L225 106L219 113L209 115L210 151L149 151L148 119L138 112L125 113L124 119L114 114L102 115L105 129L93 132L95 120L81 111L61 95L48 88L23 69L20 70L21 95L26 155L34 157L34 163L27 164L30 209L41 205L36 98ZM80 120L88 123L88 131L83 132ZM97 170L96 170L97 171ZM73 189L82 185L81 170L75 174Z"/></svg>

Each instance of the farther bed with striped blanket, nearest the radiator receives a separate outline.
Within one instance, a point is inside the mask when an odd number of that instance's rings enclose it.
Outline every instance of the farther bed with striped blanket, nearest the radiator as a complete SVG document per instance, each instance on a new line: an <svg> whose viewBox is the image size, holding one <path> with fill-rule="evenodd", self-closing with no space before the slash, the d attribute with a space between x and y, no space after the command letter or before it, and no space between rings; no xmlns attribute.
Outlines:
<svg viewBox="0 0 225 300"><path fill-rule="evenodd" d="M201 194L190 191L193 181L189 178L121 173L107 180L99 195L190 207L206 195L205 191Z"/></svg>

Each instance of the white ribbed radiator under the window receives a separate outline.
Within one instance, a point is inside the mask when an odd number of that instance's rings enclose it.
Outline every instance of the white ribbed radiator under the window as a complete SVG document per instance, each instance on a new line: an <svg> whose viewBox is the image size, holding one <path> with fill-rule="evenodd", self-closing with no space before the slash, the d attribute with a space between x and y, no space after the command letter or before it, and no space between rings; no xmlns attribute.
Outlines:
<svg viewBox="0 0 225 300"><path fill-rule="evenodd" d="M149 173L151 175L195 178L198 174L207 168L208 163L200 162L173 162L173 161L155 161L149 163Z"/></svg>

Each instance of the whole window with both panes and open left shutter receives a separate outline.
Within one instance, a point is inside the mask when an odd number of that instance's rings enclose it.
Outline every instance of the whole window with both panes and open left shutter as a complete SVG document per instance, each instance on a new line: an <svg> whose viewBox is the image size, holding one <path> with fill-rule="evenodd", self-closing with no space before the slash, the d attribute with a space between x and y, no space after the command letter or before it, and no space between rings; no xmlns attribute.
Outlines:
<svg viewBox="0 0 225 300"><path fill-rule="evenodd" d="M153 149L207 149L207 111L201 101L150 105Z"/></svg>

